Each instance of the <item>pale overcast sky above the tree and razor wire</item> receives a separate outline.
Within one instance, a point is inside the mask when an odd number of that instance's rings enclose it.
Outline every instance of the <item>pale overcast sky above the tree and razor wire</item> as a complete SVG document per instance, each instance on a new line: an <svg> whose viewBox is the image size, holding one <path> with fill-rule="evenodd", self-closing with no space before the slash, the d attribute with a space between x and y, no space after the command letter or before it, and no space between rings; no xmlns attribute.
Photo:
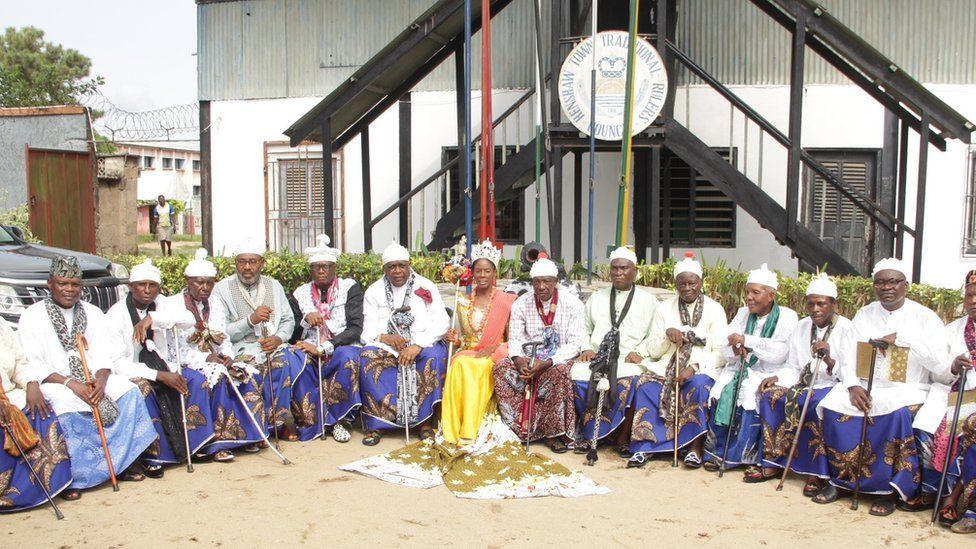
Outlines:
<svg viewBox="0 0 976 549"><path fill-rule="evenodd" d="M90 57L102 93L121 109L197 100L193 0L0 0L0 27L28 25Z"/></svg>

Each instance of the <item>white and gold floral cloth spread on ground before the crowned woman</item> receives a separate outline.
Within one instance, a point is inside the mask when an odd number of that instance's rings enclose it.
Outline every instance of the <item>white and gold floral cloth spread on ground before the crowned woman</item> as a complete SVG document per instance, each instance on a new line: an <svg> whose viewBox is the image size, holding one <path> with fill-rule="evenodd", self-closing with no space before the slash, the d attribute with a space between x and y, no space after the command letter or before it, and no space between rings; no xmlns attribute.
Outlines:
<svg viewBox="0 0 976 549"><path fill-rule="evenodd" d="M542 496L579 497L608 494L579 471L571 471L525 447L498 417L487 414L478 439L460 451L436 441L416 442L339 469L414 488L441 484L459 498L505 499Z"/></svg>

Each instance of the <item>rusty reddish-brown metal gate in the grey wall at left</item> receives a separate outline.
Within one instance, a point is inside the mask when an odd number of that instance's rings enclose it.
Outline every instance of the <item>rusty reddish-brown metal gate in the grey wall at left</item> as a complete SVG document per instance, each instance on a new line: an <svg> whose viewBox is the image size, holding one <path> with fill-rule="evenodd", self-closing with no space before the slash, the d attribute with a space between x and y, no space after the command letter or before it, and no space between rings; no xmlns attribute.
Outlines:
<svg viewBox="0 0 976 549"><path fill-rule="evenodd" d="M94 170L90 152L27 147L31 232L45 244L95 253Z"/></svg>

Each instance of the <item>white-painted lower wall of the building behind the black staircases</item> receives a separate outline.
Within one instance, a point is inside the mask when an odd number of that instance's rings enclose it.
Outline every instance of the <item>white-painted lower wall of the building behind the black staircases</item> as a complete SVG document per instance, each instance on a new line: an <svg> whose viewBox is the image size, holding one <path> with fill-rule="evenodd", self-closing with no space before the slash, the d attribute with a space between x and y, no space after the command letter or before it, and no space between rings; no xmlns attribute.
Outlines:
<svg viewBox="0 0 976 549"><path fill-rule="evenodd" d="M969 119L976 119L976 86L933 85L931 89L943 100ZM734 91L756 108L764 117L785 133L789 111L789 89L786 86L741 86ZM496 91L495 112L503 111L522 92ZM264 173L263 147L265 142L282 141L280 133L317 102L316 98L296 98L255 101L215 101L211 104L213 178L214 178L214 242L215 251L229 250L241 238L264 238ZM473 99L473 119L480 129L480 101ZM412 96L412 180L419 184L441 165L442 147L456 145L456 116L453 92L424 92ZM531 140L533 124L531 102L523 105L519 121L514 119L506 128L507 139L496 130L496 144ZM727 147L730 144L729 105L710 88L691 86L679 88L676 94L675 117L687 125L707 144ZM871 148L881 149L884 111L873 99L854 86L808 86L804 96L804 126L802 143L807 148ZM372 159L372 212L378 214L398 196L397 135L398 111L394 106L381 115L370 128ZM516 128L517 126L517 128ZM748 134L748 137L747 137ZM909 226L915 219L915 182L917 135L910 133L908 162ZM748 143L747 143L748 141ZM739 152L740 165L745 173L759 182L759 131L754 124L743 124L743 116L736 113L731 122L731 145ZM922 280L948 287L959 286L959 280L976 258L962 253L965 228L965 200L969 181L968 146L949 142L946 152L929 150L928 194L926 198L926 227L923 251ZM346 210L345 243L352 252L362 251L361 148L359 138L352 140L342 151L342 181L345 185ZM583 155L584 201L574 204L573 159L563 161L563 257L571 259L573 230L583 227L583 255L587 246L587 202L585 178L588 155ZM763 189L781 203L785 201L786 151L766 136L762 154ZM606 248L614 240L616 222L619 153L601 153L596 163L595 258L606 257ZM543 199L545 194L543 191ZM426 242L439 218L440 196L437 185L420 193L411 201L410 242ZM526 241L533 240L534 190L525 193ZM546 209L543 207L542 242L548 244ZM633 242L633 216L628 227L629 242ZM419 235L419 236L418 236ZM397 238L397 215L387 217L373 232L373 242L381 249ZM413 246L416 247L416 246ZM905 257L911 260L912 241L906 243ZM508 247L507 253L513 252ZM673 249L680 257L686 250ZM762 229L744 210L736 218L735 248L705 248L694 250L706 262L724 260L730 266L753 268L769 263L771 268L794 273L797 261L790 250L779 245L770 233Z"/></svg>

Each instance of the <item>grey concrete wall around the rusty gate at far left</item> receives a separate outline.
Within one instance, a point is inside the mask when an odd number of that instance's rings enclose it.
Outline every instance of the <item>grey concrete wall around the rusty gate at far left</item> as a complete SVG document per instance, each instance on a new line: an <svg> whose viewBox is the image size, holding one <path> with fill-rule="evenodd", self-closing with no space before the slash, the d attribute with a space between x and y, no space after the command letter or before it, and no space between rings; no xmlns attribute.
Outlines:
<svg viewBox="0 0 976 549"><path fill-rule="evenodd" d="M88 134L84 113L40 116L0 113L0 209L27 203L25 145L84 152L88 150Z"/></svg>

